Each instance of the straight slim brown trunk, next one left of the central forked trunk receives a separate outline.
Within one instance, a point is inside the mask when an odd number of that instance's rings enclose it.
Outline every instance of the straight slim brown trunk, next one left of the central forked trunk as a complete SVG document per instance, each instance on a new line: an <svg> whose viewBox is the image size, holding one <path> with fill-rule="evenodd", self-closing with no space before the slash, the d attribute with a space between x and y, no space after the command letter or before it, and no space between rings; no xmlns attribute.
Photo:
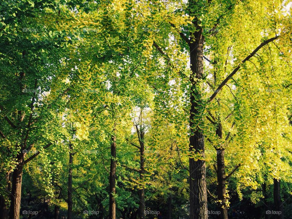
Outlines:
<svg viewBox="0 0 292 219"><path fill-rule="evenodd" d="M109 171L109 219L116 219L116 136L112 135L111 158Z"/></svg>

